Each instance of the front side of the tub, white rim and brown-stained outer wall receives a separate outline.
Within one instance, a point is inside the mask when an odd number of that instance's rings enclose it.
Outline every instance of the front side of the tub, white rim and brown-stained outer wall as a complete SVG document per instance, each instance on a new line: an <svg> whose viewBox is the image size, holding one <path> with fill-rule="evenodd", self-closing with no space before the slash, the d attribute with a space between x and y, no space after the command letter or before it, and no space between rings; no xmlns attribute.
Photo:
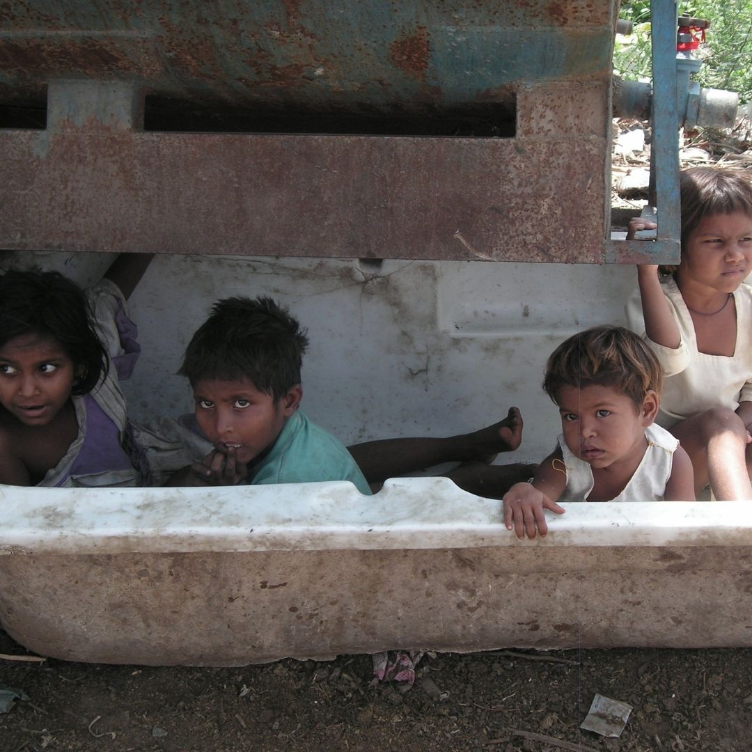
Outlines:
<svg viewBox="0 0 752 752"><path fill-rule="evenodd" d="M67 660L752 644L743 502L573 504L535 541L445 478L373 497L2 487L0 503L0 620Z"/></svg>

